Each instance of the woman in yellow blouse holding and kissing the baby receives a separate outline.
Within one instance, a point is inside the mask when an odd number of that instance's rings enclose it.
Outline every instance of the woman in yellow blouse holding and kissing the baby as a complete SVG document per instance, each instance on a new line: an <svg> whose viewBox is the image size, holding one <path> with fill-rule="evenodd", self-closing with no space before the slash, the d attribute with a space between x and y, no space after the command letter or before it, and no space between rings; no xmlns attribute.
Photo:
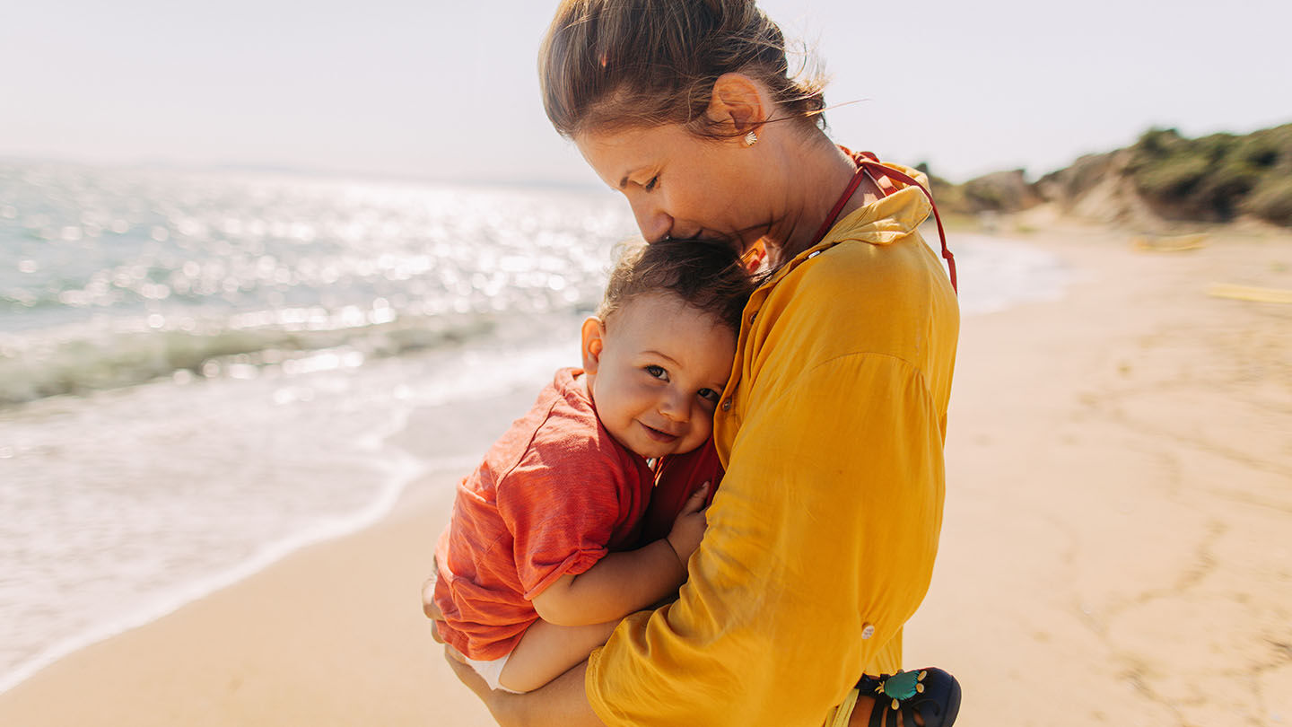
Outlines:
<svg viewBox="0 0 1292 727"><path fill-rule="evenodd" d="M647 241L761 243L775 273L745 308L714 423L727 471L678 600L537 692L459 675L503 724L860 724L872 706L895 724L890 692L854 684L901 667L928 590L959 331L916 173L829 141L820 87L788 76L752 1L565 0L539 65L548 116ZM955 718L937 677L901 700L922 700L915 722Z"/></svg>

